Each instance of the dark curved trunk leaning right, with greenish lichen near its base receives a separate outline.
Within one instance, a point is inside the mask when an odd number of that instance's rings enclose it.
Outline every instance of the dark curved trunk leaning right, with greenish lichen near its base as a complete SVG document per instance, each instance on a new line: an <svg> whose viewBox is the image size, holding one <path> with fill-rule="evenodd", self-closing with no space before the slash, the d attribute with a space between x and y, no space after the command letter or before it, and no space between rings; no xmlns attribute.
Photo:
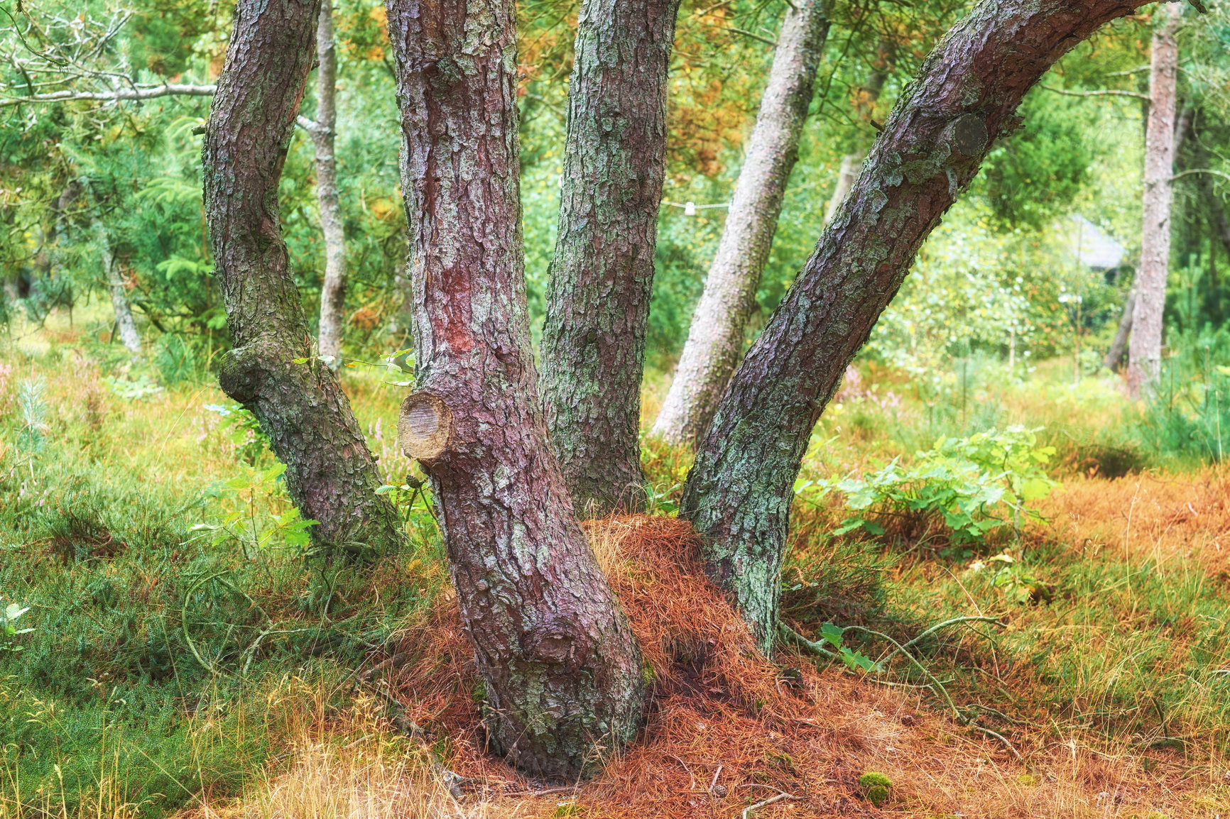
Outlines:
<svg viewBox="0 0 1230 819"><path fill-rule="evenodd" d="M854 189L748 350L701 444L683 510L712 576L772 647L782 548L808 437L922 240L1022 96L1140 0L984 0L902 93Z"/></svg>

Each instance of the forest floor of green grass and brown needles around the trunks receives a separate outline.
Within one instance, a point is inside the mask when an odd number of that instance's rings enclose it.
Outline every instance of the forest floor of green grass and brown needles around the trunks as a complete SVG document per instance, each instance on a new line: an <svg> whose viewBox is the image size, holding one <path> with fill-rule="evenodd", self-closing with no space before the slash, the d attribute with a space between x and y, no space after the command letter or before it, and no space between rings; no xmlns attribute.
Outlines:
<svg viewBox="0 0 1230 819"><path fill-rule="evenodd" d="M849 627L878 673L752 649L672 515L686 453L648 441L652 514L587 525L653 668L649 719L560 788L485 753L426 507L375 567L305 562L271 455L207 407L230 402L204 362L173 364L66 322L0 350L0 609L33 630L0 643L2 819L1230 814L1230 472L1140 453L1113 378L846 385L804 477L993 424L1058 450L1041 518L977 548L834 535L847 513L800 496L784 619ZM400 390L344 382L400 482ZM954 617L994 622L910 643ZM892 782L879 807L867 772Z"/></svg>

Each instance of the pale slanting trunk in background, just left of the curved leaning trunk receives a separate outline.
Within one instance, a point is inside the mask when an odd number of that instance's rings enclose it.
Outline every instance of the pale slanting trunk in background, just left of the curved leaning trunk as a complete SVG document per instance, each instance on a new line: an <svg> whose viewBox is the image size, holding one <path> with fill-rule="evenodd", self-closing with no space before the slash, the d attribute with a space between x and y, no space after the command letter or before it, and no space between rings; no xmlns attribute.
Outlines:
<svg viewBox="0 0 1230 819"><path fill-rule="evenodd" d="M717 255L653 424L654 434L673 444L695 444L704 434L743 354L744 325L798 159L798 138L828 32L819 0L800 0L787 9Z"/></svg>

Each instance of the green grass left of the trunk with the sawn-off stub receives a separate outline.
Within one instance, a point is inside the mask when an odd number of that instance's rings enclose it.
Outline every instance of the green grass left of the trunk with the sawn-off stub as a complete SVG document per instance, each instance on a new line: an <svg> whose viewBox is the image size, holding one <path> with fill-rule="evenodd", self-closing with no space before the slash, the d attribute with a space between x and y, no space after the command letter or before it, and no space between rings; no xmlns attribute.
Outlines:
<svg viewBox="0 0 1230 819"><path fill-rule="evenodd" d="M434 598L439 546L416 530L362 567L212 545L192 528L289 508L280 485L220 486L253 470L202 408L225 397L197 371L125 400L103 381L114 352L66 336L0 355L0 596L33 628L0 652L0 817L165 815L237 792L279 753L293 702L271 703L288 679L348 696L351 671ZM354 392L376 392L364 378ZM22 382L44 385L41 428ZM394 428L395 400L359 406L365 427Z"/></svg>

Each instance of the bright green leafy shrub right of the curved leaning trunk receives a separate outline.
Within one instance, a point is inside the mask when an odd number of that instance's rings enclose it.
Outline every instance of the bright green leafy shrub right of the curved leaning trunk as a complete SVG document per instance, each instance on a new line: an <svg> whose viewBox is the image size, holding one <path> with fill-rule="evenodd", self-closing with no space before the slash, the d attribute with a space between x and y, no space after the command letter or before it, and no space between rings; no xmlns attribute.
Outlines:
<svg viewBox="0 0 1230 819"><path fill-rule="evenodd" d="M915 465L902 467L893 459L882 470L862 478L801 481L796 492L814 487L822 494L836 491L849 509L861 513L843 523L838 535L861 529L886 532L894 516L942 523L956 546L985 542L986 534L1021 515L1037 515L1026 504L1046 497L1055 486L1046 472L1053 446L1037 445L1037 430L1009 427L968 438L941 438L918 453ZM996 516L1007 508L1011 518ZM926 535L924 535L924 539Z"/></svg>

